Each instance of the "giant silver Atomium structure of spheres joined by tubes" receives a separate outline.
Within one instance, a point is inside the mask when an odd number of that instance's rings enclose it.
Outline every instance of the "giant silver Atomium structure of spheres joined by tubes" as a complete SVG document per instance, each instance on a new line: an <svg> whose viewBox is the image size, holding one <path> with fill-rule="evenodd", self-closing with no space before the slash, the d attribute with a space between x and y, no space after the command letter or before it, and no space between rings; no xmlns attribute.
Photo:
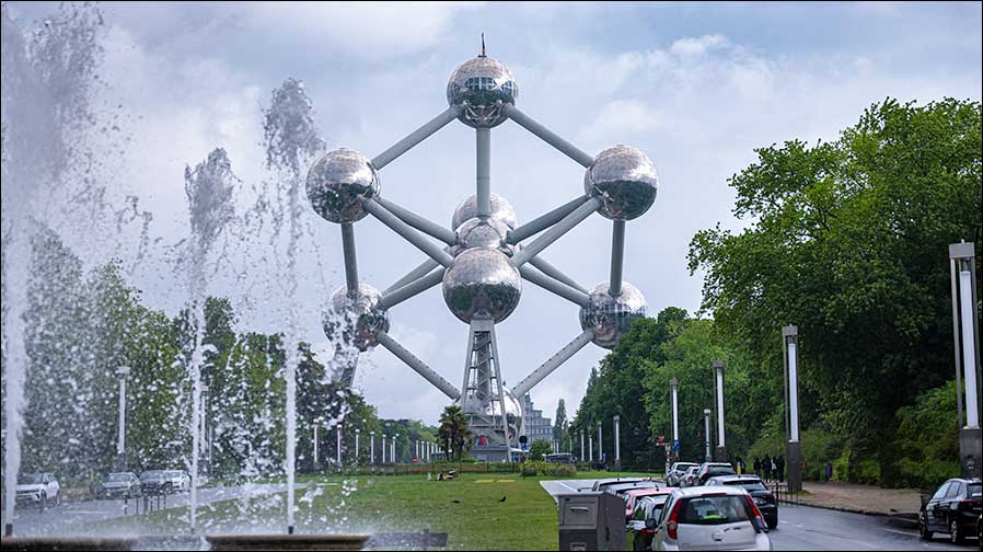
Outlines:
<svg viewBox="0 0 983 552"><path fill-rule="evenodd" d="M346 286L332 298L336 315L325 315L325 333L340 344L339 352L366 352L377 345L392 352L463 407L474 435L472 455L494 461L508 460L518 451L524 433L521 396L588 343L613 348L632 322L646 315L641 291L622 279L625 222L652 206L658 175L649 158L636 148L615 146L591 157L519 111L519 87L511 71L482 49L481 56L451 74L447 111L375 158L350 149L328 152L311 166L307 193L317 215L342 227ZM386 200L379 172L455 119L475 129L476 191L454 211L450 228L444 228ZM511 205L492 193L492 128L506 120L582 165L582 195L520 225ZM594 212L612 220L611 274L608 281L588 290L547 263L542 253ZM427 256L382 292L358 278L354 226L367 215ZM495 325L516 310L523 280L577 304L582 333L509 390L501 379ZM392 308L438 285L443 287L447 307L470 327L460 390L386 333ZM357 354L347 354L340 376L344 384L351 384L357 361Z"/></svg>

